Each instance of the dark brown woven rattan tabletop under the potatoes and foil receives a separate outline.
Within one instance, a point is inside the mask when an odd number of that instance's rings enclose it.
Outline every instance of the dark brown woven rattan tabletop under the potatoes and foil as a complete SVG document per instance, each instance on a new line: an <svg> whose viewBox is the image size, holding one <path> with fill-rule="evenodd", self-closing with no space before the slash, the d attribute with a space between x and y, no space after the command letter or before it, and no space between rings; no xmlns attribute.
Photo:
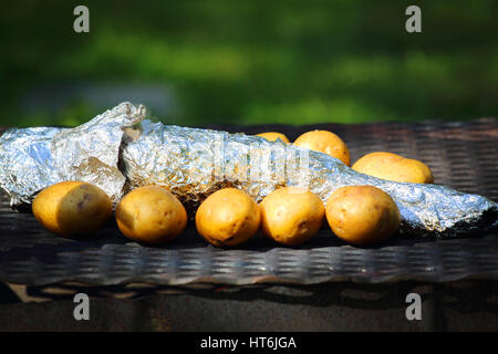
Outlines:
<svg viewBox="0 0 498 354"><path fill-rule="evenodd" d="M346 142L352 162L375 150L417 158L432 168L437 184L498 201L496 118L210 128L248 134L278 131L291 140L310 129L329 129ZM12 283L308 284L466 278L498 279L498 230L459 239L395 236L385 243L359 248L336 239L323 227L300 247L280 247L258 235L243 247L218 249L207 244L190 225L173 243L149 247L124 238L114 221L91 239L56 237L31 214L14 212L4 196L0 199L0 280Z"/></svg>

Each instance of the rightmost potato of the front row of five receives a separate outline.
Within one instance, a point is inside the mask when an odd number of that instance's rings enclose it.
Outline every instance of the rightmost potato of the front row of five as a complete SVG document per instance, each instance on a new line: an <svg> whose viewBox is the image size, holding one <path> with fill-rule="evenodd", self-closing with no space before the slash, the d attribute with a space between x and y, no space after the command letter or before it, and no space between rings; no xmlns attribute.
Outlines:
<svg viewBox="0 0 498 354"><path fill-rule="evenodd" d="M332 231L353 244L384 241L401 222L396 202L373 186L339 188L326 200L325 212Z"/></svg>

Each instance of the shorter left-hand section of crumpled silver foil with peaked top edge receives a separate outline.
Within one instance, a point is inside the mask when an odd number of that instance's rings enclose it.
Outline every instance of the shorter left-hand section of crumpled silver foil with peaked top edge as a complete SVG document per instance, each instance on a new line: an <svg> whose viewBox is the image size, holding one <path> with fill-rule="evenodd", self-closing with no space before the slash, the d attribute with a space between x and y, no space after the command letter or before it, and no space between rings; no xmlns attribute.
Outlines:
<svg viewBox="0 0 498 354"><path fill-rule="evenodd" d="M0 187L12 207L31 202L43 188L83 180L117 201L126 178L118 169L125 128L145 110L122 103L75 128L13 128L0 137Z"/></svg>

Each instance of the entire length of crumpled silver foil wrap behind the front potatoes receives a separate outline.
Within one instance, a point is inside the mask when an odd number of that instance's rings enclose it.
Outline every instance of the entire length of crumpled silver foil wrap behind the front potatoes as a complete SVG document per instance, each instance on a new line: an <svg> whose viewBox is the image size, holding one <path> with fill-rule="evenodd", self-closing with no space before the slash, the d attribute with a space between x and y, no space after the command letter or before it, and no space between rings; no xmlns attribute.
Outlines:
<svg viewBox="0 0 498 354"><path fill-rule="evenodd" d="M281 140L187 128L145 118L145 108L122 103L75 128L18 128L0 137L0 186L11 206L62 180L101 187L117 202L145 185L168 188L193 215L226 186L257 201L282 186L309 188L323 201L338 188L371 185L396 201L401 231L456 236L496 222L498 206L438 185L395 183L359 174L341 160Z"/></svg>

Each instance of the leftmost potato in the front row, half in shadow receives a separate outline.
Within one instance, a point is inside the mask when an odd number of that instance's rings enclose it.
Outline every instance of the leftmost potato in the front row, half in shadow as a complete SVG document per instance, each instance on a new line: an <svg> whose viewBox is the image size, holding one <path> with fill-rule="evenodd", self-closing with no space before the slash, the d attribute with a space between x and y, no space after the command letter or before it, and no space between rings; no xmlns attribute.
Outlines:
<svg viewBox="0 0 498 354"><path fill-rule="evenodd" d="M113 214L108 196L84 181L63 181L40 191L32 204L37 220L60 236L97 230Z"/></svg>

